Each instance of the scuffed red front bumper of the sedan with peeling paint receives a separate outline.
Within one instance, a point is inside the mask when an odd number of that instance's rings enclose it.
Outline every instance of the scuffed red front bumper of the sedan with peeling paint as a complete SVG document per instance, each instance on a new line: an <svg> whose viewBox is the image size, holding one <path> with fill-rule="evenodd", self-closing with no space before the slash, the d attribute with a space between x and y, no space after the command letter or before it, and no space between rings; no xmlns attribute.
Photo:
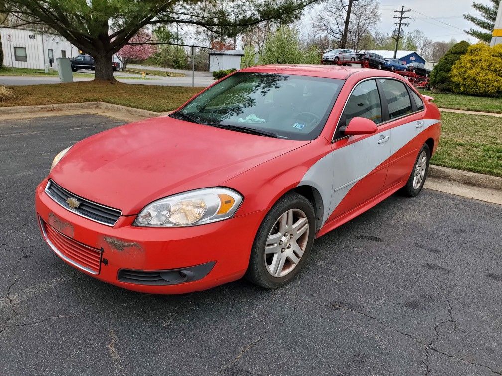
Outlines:
<svg viewBox="0 0 502 376"><path fill-rule="evenodd" d="M244 274L258 228L265 216L255 212L207 225L180 228L133 226L136 216L121 216L113 227L77 216L44 192L47 179L36 190L35 207L44 223L82 245L101 250L97 273L69 265L101 281L138 292L182 294L205 290L236 280ZM50 244L51 245L51 244ZM51 245L51 247L54 244ZM195 281L170 285L142 285L119 280L121 269L165 271L212 263L209 273Z"/></svg>

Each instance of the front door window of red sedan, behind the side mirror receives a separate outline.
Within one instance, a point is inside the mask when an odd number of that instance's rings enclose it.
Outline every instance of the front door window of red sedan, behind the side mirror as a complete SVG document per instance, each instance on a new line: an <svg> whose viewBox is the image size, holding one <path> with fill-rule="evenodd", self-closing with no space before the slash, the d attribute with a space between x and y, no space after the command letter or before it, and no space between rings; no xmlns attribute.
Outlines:
<svg viewBox="0 0 502 376"><path fill-rule="evenodd" d="M342 125L348 125L353 117L364 117L375 124L382 122L382 103L374 80L363 81L354 88L343 116L345 124Z"/></svg>

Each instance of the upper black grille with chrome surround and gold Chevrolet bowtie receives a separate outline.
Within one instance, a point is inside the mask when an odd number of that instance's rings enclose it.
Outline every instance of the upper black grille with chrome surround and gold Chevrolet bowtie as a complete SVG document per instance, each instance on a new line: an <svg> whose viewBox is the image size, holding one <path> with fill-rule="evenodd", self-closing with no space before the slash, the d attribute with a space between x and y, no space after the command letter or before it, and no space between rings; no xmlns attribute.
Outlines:
<svg viewBox="0 0 502 376"><path fill-rule="evenodd" d="M83 199L71 192L66 191L62 186L56 184L53 180L49 180L45 187L45 193L61 205L66 210L78 214L81 217L90 219L91 221L101 223L107 226L113 226L121 215L117 209L108 208L89 200ZM68 204L68 200L76 200L78 207L72 208Z"/></svg>

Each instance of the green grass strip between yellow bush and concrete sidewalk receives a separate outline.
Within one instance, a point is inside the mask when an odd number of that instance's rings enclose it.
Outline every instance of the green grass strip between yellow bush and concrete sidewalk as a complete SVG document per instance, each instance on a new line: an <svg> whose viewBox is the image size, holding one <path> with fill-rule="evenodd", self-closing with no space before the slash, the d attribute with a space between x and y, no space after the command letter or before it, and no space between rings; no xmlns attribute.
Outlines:
<svg viewBox="0 0 502 376"><path fill-rule="evenodd" d="M439 108L502 113L502 98L470 97L468 95L434 93L429 90L420 90L420 92L433 97L433 103Z"/></svg>

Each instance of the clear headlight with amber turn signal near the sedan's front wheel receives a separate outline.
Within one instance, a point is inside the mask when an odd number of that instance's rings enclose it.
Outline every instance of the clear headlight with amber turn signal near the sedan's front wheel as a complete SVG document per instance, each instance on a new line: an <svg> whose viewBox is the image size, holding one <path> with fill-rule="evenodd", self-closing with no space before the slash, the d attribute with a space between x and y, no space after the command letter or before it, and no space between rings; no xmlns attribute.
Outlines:
<svg viewBox="0 0 502 376"><path fill-rule="evenodd" d="M136 226L180 227L222 221L233 216L242 197L227 188L204 188L167 197L148 205Z"/></svg>

